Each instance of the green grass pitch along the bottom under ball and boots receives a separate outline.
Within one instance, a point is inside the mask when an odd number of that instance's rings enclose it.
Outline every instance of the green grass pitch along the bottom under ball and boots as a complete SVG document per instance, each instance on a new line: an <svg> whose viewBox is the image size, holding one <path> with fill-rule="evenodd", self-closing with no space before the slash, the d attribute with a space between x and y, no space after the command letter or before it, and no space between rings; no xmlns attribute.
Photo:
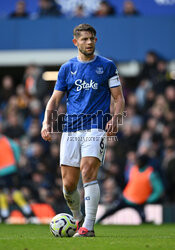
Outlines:
<svg viewBox="0 0 175 250"><path fill-rule="evenodd" d="M48 225L0 224L0 250L175 249L175 225L95 226L95 238L55 238Z"/></svg>

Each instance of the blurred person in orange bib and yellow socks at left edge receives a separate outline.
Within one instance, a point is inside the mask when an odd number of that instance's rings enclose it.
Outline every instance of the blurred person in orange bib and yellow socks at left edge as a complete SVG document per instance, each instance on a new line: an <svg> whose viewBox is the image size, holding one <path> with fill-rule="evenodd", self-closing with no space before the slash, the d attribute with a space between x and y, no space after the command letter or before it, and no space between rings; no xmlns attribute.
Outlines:
<svg viewBox="0 0 175 250"><path fill-rule="evenodd" d="M20 179L17 168L19 159L18 144L0 134L0 218L2 221L10 215L8 204L10 196L27 218L33 216L29 204L19 190Z"/></svg>

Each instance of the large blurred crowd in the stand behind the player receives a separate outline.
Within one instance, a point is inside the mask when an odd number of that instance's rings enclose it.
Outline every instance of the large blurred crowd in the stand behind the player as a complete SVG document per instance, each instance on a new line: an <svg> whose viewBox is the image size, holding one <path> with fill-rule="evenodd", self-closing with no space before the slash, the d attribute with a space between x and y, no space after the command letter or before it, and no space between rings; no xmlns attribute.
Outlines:
<svg viewBox="0 0 175 250"><path fill-rule="evenodd" d="M110 205L122 192L138 154L146 154L149 164L164 185L160 202L175 201L175 85L167 63L150 51L146 55L137 84L120 76L126 99L127 117L119 126L116 140L108 140L106 160L98 180L101 203ZM50 204L56 212L65 211L59 168L61 133L50 143L42 140L40 129L53 84L42 79L42 69L29 65L14 84L13 75L5 75L0 88L0 134L20 148L17 170L11 186L0 176L0 192L17 188L31 204ZM59 107L65 112L65 99ZM112 113L112 110L111 110ZM8 173L7 173L8 175ZM80 189L81 189L80 183ZM83 193L82 193L83 200Z"/></svg>

